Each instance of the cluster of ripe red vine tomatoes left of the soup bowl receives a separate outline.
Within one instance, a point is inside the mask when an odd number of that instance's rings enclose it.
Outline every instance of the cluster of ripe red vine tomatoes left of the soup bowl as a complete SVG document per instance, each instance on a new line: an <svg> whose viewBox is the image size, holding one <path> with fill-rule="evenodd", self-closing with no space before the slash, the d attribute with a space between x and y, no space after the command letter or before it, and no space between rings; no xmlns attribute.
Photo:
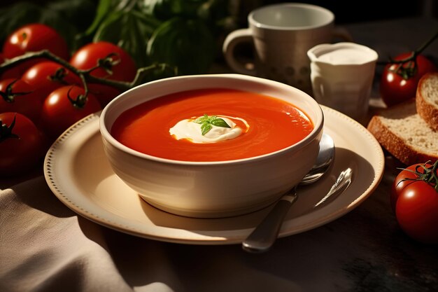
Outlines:
<svg viewBox="0 0 438 292"><path fill-rule="evenodd" d="M115 44L88 43L71 55L55 29L37 23L8 36L0 64L41 50L48 50L73 68L90 70L90 76L129 82L136 75L132 57ZM35 166L59 134L120 94L101 83L87 87L85 95L80 76L43 57L0 71L0 174L14 175Z"/></svg>

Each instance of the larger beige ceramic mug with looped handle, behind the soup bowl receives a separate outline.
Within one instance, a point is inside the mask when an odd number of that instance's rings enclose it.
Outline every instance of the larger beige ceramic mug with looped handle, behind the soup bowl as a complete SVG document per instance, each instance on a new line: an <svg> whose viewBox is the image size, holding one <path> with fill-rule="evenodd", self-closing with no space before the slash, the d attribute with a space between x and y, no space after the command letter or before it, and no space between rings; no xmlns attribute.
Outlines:
<svg viewBox="0 0 438 292"><path fill-rule="evenodd" d="M334 14L311 4L263 6L248 15L249 27L231 32L223 53L229 67L240 74L280 81L311 93L307 51L336 37L351 41L345 29L334 27ZM236 46L253 42L255 60L240 62Z"/></svg>

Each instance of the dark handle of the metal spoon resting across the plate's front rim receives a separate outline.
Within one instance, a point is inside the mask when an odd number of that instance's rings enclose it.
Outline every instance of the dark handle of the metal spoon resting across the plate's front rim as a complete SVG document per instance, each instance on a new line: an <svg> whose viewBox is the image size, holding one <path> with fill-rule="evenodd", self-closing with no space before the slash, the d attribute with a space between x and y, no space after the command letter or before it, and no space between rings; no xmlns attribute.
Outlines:
<svg viewBox="0 0 438 292"><path fill-rule="evenodd" d="M293 188L290 193L283 195L276 202L269 214L246 237L242 242L242 248L252 253L262 253L269 250L276 241L284 218L295 200L297 200L297 191Z"/></svg>

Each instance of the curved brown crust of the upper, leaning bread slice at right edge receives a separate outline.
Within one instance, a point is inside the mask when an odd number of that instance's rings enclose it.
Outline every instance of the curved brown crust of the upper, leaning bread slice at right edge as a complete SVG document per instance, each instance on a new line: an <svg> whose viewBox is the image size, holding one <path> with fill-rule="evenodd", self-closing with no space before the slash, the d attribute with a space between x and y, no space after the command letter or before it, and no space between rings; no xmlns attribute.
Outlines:
<svg viewBox="0 0 438 292"><path fill-rule="evenodd" d="M438 78L438 74L437 73L425 74L420 79L420 81L418 81L415 103L416 103L418 115L420 115L421 118L423 118L423 120L425 120L425 122L428 123L428 125L433 130L438 131L438 106L430 104L430 102L427 102L424 99L424 96L421 92L423 83L428 82L428 78Z"/></svg>

